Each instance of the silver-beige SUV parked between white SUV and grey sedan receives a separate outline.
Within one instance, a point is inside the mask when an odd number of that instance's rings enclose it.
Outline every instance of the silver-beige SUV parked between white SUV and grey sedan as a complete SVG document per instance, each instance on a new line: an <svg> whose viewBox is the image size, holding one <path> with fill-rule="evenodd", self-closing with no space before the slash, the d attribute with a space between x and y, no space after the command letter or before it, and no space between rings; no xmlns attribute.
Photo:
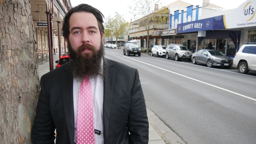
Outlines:
<svg viewBox="0 0 256 144"><path fill-rule="evenodd" d="M192 52L187 49L184 45L170 44L166 48L165 57L166 59L175 58L175 61L180 61L181 58L191 61Z"/></svg>

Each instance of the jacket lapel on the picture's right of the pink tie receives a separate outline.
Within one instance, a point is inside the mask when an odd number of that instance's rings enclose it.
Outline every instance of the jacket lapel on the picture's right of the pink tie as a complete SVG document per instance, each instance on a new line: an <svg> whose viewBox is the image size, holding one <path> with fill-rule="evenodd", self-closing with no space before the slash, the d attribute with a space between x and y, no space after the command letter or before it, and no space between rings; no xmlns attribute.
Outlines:
<svg viewBox="0 0 256 144"><path fill-rule="evenodd" d="M104 80L104 94L103 94L103 128L104 128L104 141L107 141L110 108L112 105L113 89L115 81L115 69L110 68L113 63L105 58L105 80Z"/></svg>

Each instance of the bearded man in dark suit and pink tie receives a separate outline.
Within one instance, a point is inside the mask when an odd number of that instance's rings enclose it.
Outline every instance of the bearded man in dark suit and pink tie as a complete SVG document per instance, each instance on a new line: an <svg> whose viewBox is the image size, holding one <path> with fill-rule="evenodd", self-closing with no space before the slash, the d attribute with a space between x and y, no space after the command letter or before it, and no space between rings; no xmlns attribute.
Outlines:
<svg viewBox="0 0 256 144"><path fill-rule="evenodd" d="M56 144L148 143L138 70L105 58L103 18L87 4L67 12L62 31L71 59L41 77L34 144L53 143L55 129Z"/></svg>

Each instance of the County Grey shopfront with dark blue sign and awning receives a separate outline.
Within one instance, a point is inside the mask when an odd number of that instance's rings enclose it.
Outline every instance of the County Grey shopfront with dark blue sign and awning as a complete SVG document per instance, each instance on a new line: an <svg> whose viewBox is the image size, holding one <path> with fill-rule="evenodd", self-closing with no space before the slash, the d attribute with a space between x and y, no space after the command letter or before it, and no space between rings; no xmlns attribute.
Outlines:
<svg viewBox="0 0 256 144"><path fill-rule="evenodd" d="M177 27L177 34L197 32L196 51L208 49L211 42L213 49L234 57L240 42L241 31L225 29L223 15L181 23Z"/></svg>

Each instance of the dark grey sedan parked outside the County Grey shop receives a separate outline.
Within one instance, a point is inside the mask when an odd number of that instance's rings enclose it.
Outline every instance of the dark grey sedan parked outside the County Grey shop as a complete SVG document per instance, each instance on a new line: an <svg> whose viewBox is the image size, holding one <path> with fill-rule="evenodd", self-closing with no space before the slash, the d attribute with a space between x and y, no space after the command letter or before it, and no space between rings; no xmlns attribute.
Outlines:
<svg viewBox="0 0 256 144"><path fill-rule="evenodd" d="M206 64L207 67L224 66L230 68L233 65L233 59L219 50L198 50L192 54L191 59L193 64Z"/></svg>

